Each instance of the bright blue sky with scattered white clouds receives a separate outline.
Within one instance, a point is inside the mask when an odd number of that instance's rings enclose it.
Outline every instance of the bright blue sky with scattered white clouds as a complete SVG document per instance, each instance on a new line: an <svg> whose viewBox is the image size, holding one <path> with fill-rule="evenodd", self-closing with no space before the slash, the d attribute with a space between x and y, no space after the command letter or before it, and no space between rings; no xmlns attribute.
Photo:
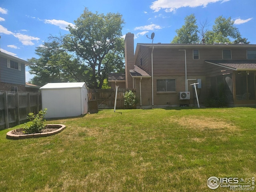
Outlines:
<svg viewBox="0 0 256 192"><path fill-rule="evenodd" d="M184 18L195 14L198 24L206 19L212 29L218 16L231 17L242 37L256 44L256 0L1 0L0 48L23 60L38 56L36 47L52 34L67 34L87 7L91 12L120 13L123 35L132 32L134 43L170 43ZM32 76L26 68L26 81Z"/></svg>

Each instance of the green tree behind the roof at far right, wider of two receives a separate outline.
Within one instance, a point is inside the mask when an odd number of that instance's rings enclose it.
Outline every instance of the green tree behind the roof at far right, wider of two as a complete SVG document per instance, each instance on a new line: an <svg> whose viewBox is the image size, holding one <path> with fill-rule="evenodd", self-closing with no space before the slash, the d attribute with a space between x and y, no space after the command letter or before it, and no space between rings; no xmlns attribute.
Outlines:
<svg viewBox="0 0 256 192"><path fill-rule="evenodd" d="M212 30L207 31L204 38L208 44L213 44L214 42L250 43L246 38L242 38L238 28L234 26L234 21L231 17L226 19L223 16L216 18Z"/></svg>

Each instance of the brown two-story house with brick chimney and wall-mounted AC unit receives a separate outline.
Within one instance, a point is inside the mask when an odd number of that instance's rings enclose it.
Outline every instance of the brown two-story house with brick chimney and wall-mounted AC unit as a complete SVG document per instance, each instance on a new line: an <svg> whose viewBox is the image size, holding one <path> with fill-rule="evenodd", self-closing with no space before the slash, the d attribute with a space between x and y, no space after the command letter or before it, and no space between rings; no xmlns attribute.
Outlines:
<svg viewBox="0 0 256 192"><path fill-rule="evenodd" d="M142 44L125 37L126 88L135 88L140 106L195 105L226 97L230 106L256 104L256 45Z"/></svg>

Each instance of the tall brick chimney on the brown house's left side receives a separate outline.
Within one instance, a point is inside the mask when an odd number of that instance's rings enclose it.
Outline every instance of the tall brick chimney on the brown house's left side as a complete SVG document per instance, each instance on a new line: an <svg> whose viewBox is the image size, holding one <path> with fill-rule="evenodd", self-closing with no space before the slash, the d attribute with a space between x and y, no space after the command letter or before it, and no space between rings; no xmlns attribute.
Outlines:
<svg viewBox="0 0 256 192"><path fill-rule="evenodd" d="M132 89L132 76L130 70L134 69L134 34L127 33L124 38L124 57L125 57L125 84L126 88Z"/></svg>

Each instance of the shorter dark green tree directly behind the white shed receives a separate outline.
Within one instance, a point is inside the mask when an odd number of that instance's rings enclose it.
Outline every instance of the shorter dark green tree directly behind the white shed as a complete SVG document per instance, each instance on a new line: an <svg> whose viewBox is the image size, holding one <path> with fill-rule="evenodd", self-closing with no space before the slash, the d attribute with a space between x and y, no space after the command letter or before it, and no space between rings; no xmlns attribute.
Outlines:
<svg viewBox="0 0 256 192"><path fill-rule="evenodd" d="M48 82L81 82L86 79L86 66L79 59L73 58L56 41L45 42L36 48L39 58L28 59L33 84L43 86Z"/></svg>

